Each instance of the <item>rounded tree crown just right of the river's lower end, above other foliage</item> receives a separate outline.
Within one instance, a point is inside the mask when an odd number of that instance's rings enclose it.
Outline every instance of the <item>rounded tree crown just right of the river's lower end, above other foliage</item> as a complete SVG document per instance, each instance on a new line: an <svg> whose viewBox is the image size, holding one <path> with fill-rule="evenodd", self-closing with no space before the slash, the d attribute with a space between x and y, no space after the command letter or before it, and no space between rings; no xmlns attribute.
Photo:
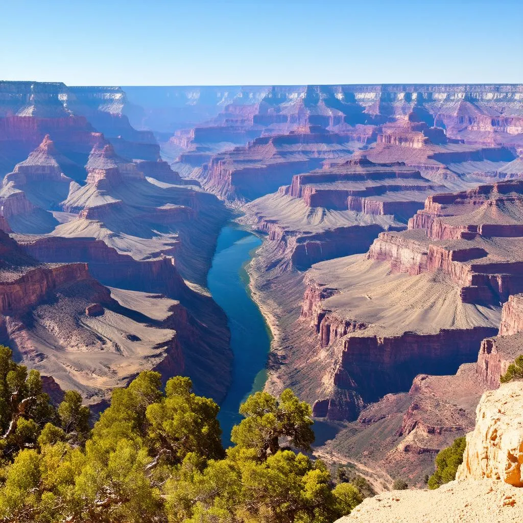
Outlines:
<svg viewBox="0 0 523 523"><path fill-rule="evenodd" d="M232 429L231 441L239 448L255 449L266 459L280 449L280 438L295 448L309 451L314 441L311 406L300 401L290 389L279 399L267 392L256 392L240 407L243 419Z"/></svg>

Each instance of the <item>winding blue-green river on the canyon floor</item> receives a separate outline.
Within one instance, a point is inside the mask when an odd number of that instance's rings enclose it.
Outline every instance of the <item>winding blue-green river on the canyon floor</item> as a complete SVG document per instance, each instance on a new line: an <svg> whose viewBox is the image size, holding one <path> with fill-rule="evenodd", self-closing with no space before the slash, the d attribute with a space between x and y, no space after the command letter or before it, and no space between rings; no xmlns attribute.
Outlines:
<svg viewBox="0 0 523 523"><path fill-rule="evenodd" d="M228 317L234 354L231 388L218 416L225 445L230 442L231 428L241 420L240 404L252 392L263 389L267 378L265 364L270 334L251 298L245 271L254 249L260 245L261 240L256 235L234 225L225 226L218 236L207 278L212 297Z"/></svg>

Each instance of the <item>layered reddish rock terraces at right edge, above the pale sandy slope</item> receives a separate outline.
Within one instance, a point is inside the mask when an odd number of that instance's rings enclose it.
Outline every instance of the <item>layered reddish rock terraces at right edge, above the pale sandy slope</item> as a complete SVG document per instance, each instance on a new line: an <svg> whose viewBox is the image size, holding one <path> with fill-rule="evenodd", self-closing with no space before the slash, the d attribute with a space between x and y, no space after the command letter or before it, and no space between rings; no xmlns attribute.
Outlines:
<svg viewBox="0 0 523 523"><path fill-rule="evenodd" d="M504 181L428 197L410 231L381 234L368 256L411 275L442 271L464 302L504 302L523 290L522 188Z"/></svg>

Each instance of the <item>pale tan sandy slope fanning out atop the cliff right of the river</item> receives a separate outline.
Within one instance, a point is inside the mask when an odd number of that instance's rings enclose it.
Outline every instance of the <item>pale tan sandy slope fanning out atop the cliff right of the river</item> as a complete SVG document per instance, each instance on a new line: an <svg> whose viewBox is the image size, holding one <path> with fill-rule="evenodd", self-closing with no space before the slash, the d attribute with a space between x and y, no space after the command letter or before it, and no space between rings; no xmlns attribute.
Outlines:
<svg viewBox="0 0 523 523"><path fill-rule="evenodd" d="M313 265L308 277L338 289L322 302L340 317L371 324L351 336L401 335L406 331L435 334L442 328L497 328L500 306L463 303L459 289L439 272L392 274L388 264L346 256ZM397 305L401 303L402 306Z"/></svg>

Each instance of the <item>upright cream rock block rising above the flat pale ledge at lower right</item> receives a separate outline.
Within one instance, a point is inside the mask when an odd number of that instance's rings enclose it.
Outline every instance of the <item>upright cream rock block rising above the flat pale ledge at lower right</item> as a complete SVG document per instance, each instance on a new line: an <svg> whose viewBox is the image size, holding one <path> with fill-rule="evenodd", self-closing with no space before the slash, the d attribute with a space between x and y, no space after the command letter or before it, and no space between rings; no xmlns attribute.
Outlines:
<svg viewBox="0 0 523 523"><path fill-rule="evenodd" d="M485 392L476 426L467 435L457 480L501 480L523 487L523 390L521 381Z"/></svg>

